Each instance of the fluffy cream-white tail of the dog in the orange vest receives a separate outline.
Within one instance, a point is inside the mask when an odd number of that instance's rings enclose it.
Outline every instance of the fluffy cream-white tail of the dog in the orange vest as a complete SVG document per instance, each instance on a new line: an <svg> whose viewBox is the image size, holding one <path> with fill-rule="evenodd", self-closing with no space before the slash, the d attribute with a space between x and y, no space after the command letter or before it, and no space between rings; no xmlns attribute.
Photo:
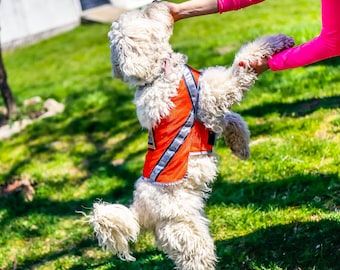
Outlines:
<svg viewBox="0 0 340 270"><path fill-rule="evenodd" d="M122 260L135 261L129 242L136 242L140 226L133 211L121 204L97 202L87 218L103 250L117 254Z"/></svg>

